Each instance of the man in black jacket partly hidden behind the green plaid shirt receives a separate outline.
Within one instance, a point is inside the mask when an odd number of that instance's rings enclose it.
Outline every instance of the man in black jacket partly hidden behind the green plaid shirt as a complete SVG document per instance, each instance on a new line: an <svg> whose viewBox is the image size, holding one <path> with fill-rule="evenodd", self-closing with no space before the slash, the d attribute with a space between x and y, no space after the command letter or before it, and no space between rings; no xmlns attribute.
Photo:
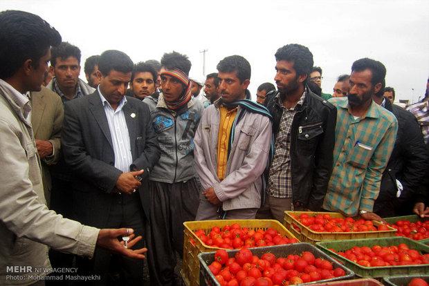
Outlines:
<svg viewBox="0 0 429 286"><path fill-rule="evenodd" d="M374 213L385 218L412 213L415 199L419 196L417 191L428 173L429 155L416 117L383 97L383 90L372 99L398 120L394 149L383 172L380 193L374 203Z"/></svg>

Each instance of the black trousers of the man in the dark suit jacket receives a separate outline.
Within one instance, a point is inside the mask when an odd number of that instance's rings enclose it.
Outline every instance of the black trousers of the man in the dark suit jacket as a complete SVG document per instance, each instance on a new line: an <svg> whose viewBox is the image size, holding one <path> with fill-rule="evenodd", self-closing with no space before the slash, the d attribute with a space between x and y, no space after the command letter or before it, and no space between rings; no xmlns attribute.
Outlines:
<svg viewBox="0 0 429 286"><path fill-rule="evenodd" d="M143 248L145 245L145 216L138 193L133 193L131 196L119 194L112 196L109 220L103 228L129 227L134 229L134 234L143 236L143 239L137 242L133 248ZM118 269L114 270L120 274L120 285L143 285L143 260L116 256L99 247L95 247L94 256L91 260L76 258L78 274L100 275L101 280L92 281L91 285L112 285L111 280L109 280L109 267L111 267L113 259L118 260L118 263L114 265ZM89 285L88 283L82 284Z"/></svg>

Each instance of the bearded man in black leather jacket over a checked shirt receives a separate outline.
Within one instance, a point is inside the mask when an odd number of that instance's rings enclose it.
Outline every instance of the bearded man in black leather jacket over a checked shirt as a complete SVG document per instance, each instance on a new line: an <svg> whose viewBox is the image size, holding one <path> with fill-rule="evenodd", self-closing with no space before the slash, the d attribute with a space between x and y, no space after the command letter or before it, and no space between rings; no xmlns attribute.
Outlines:
<svg viewBox="0 0 429 286"><path fill-rule="evenodd" d="M273 115L274 158L266 205L257 218L283 221L284 211L318 211L332 171L336 108L309 90L313 55L305 46L277 50L278 93L267 104Z"/></svg>

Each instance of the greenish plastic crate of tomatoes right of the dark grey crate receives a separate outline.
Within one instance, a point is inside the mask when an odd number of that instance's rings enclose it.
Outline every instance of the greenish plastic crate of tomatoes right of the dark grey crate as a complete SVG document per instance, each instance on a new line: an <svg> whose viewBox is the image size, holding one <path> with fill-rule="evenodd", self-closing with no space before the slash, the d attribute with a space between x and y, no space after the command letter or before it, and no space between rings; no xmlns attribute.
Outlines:
<svg viewBox="0 0 429 286"><path fill-rule="evenodd" d="M316 245L322 249L329 256L336 258L344 263L346 267L352 269L356 276L367 278L382 278L385 276L393 275L412 275L412 274L428 274L429 264L424 265L396 265L389 267L364 267L354 263L352 260L336 254L334 251L346 251L352 247L373 247L380 245L381 247L389 247L391 245L399 245L405 243L410 249L415 249L421 254L429 253L429 246L422 245L421 243L410 238L394 237L394 238L372 238L372 239L356 239L356 240L339 240L339 241L324 241L317 242Z"/></svg>

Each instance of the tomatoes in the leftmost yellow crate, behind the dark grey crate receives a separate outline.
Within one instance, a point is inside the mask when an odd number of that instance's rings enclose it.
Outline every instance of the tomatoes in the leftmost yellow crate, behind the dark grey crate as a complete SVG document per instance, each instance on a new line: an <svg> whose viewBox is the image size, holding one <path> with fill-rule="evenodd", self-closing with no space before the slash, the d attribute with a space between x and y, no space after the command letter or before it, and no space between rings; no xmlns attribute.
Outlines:
<svg viewBox="0 0 429 286"><path fill-rule="evenodd" d="M299 242L296 238L287 238L276 229L248 229L237 223L220 227L213 227L206 235L203 229L195 231L195 235L210 247L239 249L241 247L265 247L272 245L288 245ZM194 245L195 241L190 240Z"/></svg>

